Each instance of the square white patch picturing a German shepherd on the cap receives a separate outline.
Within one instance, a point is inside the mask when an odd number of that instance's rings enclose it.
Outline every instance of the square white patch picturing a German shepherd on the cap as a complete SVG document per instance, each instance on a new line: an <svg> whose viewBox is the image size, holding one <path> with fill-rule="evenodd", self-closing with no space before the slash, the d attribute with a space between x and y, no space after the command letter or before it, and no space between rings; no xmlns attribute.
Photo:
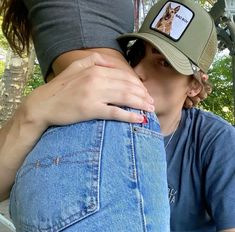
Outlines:
<svg viewBox="0 0 235 232"><path fill-rule="evenodd" d="M178 2L167 2L154 18L151 29L161 32L173 40L179 40L183 35L194 13Z"/></svg>

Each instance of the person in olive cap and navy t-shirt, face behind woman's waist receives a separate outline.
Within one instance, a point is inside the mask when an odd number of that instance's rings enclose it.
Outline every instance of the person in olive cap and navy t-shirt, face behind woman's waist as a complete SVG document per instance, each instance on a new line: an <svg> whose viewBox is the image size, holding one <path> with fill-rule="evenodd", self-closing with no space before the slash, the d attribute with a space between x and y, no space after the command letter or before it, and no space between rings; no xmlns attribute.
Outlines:
<svg viewBox="0 0 235 232"><path fill-rule="evenodd" d="M200 72L208 72L217 50L212 18L193 1L159 1L138 33L118 40L155 100L171 231L235 231L235 130L212 113L183 108L187 96L210 92Z"/></svg>

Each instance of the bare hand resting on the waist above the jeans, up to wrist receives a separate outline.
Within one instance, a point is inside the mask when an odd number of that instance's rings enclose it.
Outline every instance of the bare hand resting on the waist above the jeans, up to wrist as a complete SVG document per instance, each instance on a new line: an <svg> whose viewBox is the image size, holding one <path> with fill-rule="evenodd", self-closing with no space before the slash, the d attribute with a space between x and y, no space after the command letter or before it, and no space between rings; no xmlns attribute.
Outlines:
<svg viewBox="0 0 235 232"><path fill-rule="evenodd" d="M73 62L24 102L28 120L45 128L91 119L143 122L143 116L118 106L154 111L141 81L115 67L115 58L99 54Z"/></svg>

